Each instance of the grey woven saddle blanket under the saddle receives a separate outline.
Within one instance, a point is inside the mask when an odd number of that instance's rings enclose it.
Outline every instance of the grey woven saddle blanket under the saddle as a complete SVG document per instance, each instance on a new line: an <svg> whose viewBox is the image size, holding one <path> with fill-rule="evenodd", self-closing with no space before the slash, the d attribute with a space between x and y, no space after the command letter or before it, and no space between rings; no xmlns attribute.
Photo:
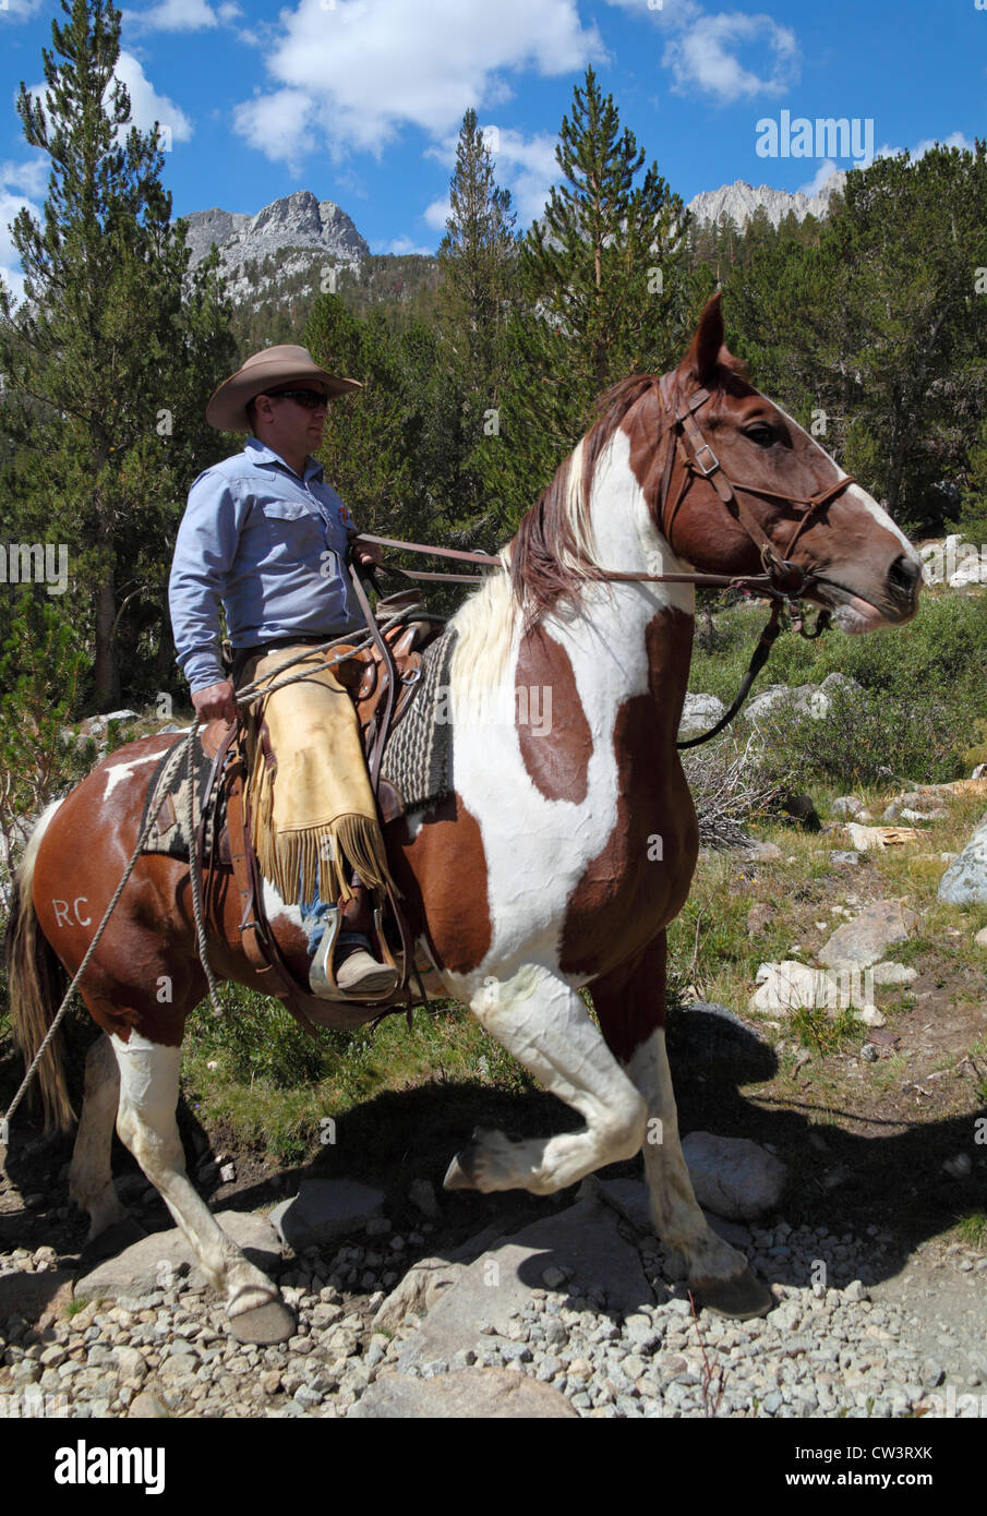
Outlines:
<svg viewBox="0 0 987 1516"><path fill-rule="evenodd" d="M441 800L452 788L452 720L449 714L449 672L456 644L456 632L449 628L421 655L421 679L411 706L394 729L381 764L382 778L403 800L405 810L417 810ZM186 756L176 764L177 744L165 749L147 787L141 828L149 816L155 820L144 843L144 852L167 854L188 860L188 764ZM193 773L193 832L202 820L202 805L209 784L212 758L196 743ZM170 772L167 772L170 770ZM217 784L206 826L206 857L212 838L218 841L226 825L226 797Z"/></svg>

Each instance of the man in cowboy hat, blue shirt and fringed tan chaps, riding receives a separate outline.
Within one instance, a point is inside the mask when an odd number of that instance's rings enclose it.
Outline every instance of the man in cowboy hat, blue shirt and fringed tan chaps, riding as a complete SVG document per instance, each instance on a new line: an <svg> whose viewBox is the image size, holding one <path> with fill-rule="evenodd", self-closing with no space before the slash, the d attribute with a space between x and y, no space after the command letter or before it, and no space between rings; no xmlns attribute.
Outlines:
<svg viewBox="0 0 987 1516"><path fill-rule="evenodd" d="M359 390L320 368L305 347L279 346L247 358L206 406L223 432L249 432L241 453L206 468L188 493L177 532L168 602L177 662L202 722L235 719L233 690L285 684L258 702L249 726L249 797L261 873L297 902L309 948L309 987L329 998L332 905L343 908L335 949L340 990L382 999L397 973L371 955L370 891L384 890L387 854L356 711L318 653L362 619L346 555L379 562L361 547L352 517L311 453L321 441L329 397ZM233 649L220 659L220 605Z"/></svg>

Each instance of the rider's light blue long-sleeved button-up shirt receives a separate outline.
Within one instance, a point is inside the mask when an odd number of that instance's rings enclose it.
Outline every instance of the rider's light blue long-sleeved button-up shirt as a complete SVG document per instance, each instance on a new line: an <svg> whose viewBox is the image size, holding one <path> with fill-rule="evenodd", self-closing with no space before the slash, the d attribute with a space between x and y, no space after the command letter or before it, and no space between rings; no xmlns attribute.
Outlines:
<svg viewBox="0 0 987 1516"><path fill-rule="evenodd" d="M233 647L335 637L362 626L344 552L352 517L305 461L305 478L250 437L188 491L168 584L177 661L191 690L226 678L220 603Z"/></svg>

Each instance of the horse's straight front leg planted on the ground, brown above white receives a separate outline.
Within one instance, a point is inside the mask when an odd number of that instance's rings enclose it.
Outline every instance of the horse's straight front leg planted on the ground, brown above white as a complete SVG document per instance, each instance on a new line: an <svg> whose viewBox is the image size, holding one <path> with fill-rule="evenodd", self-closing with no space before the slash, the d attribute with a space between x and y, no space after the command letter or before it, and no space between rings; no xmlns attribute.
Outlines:
<svg viewBox="0 0 987 1516"><path fill-rule="evenodd" d="M772 1292L707 1222L682 1157L666 1054L666 934L631 972L594 981L593 1004L608 1046L647 1104L644 1173L658 1236L684 1255L697 1304L722 1316L764 1316L775 1304Z"/></svg>

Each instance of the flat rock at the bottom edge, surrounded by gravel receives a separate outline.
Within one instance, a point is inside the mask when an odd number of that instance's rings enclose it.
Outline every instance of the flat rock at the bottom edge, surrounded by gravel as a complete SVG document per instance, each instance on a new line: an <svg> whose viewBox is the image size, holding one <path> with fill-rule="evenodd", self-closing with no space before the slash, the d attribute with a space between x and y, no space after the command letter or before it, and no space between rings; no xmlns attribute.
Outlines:
<svg viewBox="0 0 987 1516"><path fill-rule="evenodd" d="M387 1373L352 1405L355 1420L449 1417L503 1420L572 1419L578 1411L550 1384L541 1384L511 1369L455 1369L431 1378Z"/></svg>

